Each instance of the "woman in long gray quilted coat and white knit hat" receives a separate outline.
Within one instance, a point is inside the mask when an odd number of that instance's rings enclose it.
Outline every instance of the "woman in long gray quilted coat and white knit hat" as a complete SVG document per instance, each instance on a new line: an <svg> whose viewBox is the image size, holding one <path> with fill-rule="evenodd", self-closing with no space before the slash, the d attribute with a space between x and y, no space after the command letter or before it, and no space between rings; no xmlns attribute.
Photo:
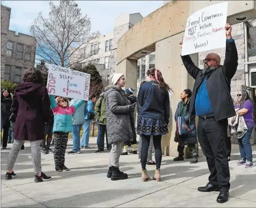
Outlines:
<svg viewBox="0 0 256 208"><path fill-rule="evenodd" d="M106 88L104 97L106 99L108 144L111 144L112 148L107 177L116 181L128 178L126 173L119 170L119 158L124 142L133 139L131 112L136 103L129 104L125 91L121 89L125 85L123 74L113 74L108 79L112 85Z"/></svg>

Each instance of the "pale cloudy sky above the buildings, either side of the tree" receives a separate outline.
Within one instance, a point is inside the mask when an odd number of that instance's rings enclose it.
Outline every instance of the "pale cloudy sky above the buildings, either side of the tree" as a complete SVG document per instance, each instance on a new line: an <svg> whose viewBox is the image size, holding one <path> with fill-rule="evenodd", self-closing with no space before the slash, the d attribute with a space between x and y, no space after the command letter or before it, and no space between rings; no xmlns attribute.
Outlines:
<svg viewBox="0 0 256 208"><path fill-rule="evenodd" d="M48 17L50 1L1 1L11 7L9 30L30 34L29 27L38 13ZM54 1L55 5L59 1ZM115 19L121 13L140 13L143 17L162 6L162 1L76 1L83 15L91 18L91 32L108 34L113 31Z"/></svg>

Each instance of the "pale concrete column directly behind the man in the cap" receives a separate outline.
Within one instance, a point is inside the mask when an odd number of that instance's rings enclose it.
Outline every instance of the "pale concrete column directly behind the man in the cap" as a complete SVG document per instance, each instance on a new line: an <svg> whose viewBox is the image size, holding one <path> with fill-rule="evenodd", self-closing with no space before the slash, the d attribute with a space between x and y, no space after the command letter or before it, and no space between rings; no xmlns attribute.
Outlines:
<svg viewBox="0 0 256 208"><path fill-rule="evenodd" d="M181 49L178 44L184 33L174 35L156 43L156 68L162 72L164 80L174 91L170 97L170 123L169 133L162 137L162 152L166 156L177 156L177 143L174 142L176 122L174 114L177 104L181 100L180 93L186 88L192 88L193 78L188 75L181 60ZM198 65L198 54L191 56L192 60Z"/></svg>

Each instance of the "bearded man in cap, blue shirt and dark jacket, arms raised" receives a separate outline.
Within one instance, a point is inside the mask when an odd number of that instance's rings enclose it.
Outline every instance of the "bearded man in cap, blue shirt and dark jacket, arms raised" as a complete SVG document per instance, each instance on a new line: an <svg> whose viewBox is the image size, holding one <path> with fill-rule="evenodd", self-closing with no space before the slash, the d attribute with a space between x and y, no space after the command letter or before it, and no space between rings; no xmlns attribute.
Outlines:
<svg viewBox="0 0 256 208"><path fill-rule="evenodd" d="M224 203L229 198L230 173L227 161L225 139L227 118L235 115L230 95L231 79L238 66L235 42L231 36L231 25L225 25L226 55L224 65L217 54L208 54L204 59L204 69L196 67L189 55L181 56L186 70L196 81L190 99L189 116L196 114L198 121L198 141L206 156L210 170L209 182L198 191L220 191L217 202ZM182 41L180 46L182 48Z"/></svg>

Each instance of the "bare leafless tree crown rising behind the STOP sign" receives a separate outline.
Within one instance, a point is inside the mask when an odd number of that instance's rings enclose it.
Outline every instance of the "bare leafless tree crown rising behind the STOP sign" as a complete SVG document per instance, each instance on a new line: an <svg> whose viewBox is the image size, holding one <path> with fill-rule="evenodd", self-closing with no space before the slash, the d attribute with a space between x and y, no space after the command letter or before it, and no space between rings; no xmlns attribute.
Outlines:
<svg viewBox="0 0 256 208"><path fill-rule="evenodd" d="M78 4L71 0L60 1L57 6L50 2L49 17L43 18L39 13L30 31L36 38L36 55L46 63L62 67L80 62L81 58L74 58L79 48L99 36L98 31L91 33L90 18L87 15L83 17ZM90 56L86 54L83 59Z"/></svg>

